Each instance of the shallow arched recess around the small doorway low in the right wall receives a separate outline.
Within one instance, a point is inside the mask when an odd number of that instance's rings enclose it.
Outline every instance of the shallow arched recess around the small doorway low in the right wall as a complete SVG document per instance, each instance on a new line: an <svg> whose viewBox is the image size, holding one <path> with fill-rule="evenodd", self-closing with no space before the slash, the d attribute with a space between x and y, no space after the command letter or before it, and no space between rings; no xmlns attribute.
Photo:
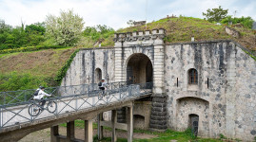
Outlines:
<svg viewBox="0 0 256 142"><path fill-rule="evenodd" d="M196 134L209 136L209 102L202 98L179 98L176 109L176 128L178 131L185 131L192 127L197 119ZM195 123L194 123L195 124Z"/></svg>

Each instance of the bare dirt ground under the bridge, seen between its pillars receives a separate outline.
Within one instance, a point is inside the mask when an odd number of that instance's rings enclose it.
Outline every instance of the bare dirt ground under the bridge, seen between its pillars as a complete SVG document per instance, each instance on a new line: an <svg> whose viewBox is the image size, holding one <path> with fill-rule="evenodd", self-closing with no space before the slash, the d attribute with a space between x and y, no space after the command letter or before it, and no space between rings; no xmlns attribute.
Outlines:
<svg viewBox="0 0 256 142"><path fill-rule="evenodd" d="M59 127L59 133L62 135L66 135L66 128ZM97 134L97 130L93 130L93 135ZM103 135L106 137L111 136L111 132L104 130ZM117 137L127 138L126 132L117 132ZM146 134L146 133L133 133L133 138L136 139L149 139L157 137L157 135ZM75 129L75 138L84 139L84 130L76 128ZM30 133L25 136L19 142L49 142L50 141L50 129L40 130L34 133Z"/></svg>

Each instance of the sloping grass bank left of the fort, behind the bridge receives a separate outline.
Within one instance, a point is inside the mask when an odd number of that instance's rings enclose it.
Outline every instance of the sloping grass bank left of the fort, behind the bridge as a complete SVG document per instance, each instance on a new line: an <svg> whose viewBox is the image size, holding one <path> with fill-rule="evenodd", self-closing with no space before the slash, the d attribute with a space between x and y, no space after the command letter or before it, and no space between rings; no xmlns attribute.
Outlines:
<svg viewBox="0 0 256 142"><path fill-rule="evenodd" d="M54 78L75 48L10 53L0 57L0 91L57 85Z"/></svg>

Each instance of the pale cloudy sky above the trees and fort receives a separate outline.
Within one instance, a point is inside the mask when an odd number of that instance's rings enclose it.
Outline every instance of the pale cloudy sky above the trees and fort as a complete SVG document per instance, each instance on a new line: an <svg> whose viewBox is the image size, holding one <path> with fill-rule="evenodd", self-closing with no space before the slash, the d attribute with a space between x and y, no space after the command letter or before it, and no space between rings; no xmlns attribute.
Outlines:
<svg viewBox="0 0 256 142"><path fill-rule="evenodd" d="M128 20L159 20L167 15L204 18L202 12L222 6L229 15L256 20L256 0L0 0L0 19L11 26L43 22L46 15L73 9L85 26L127 27Z"/></svg>

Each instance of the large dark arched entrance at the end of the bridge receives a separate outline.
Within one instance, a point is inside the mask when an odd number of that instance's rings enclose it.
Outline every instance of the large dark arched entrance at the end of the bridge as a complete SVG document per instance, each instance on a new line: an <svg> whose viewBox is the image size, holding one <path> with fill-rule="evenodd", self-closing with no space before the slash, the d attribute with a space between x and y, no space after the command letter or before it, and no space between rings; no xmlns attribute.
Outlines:
<svg viewBox="0 0 256 142"><path fill-rule="evenodd" d="M148 56L142 53L131 55L127 66L129 84L145 83L153 80L153 67Z"/></svg>

